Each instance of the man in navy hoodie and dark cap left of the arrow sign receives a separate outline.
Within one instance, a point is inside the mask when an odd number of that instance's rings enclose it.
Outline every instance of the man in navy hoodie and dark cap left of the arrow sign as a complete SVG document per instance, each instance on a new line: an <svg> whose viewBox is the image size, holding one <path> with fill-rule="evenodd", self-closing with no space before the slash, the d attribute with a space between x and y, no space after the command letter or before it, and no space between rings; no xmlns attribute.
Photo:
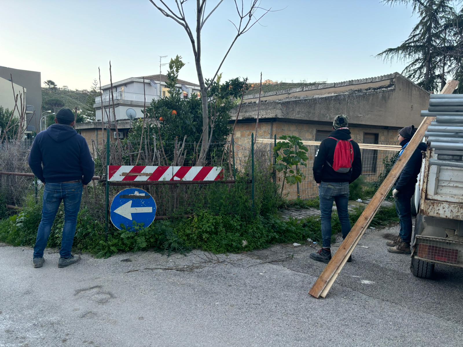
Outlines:
<svg viewBox="0 0 463 347"><path fill-rule="evenodd" d="M92 180L95 169L87 142L73 128L74 113L67 108L60 110L55 123L37 134L29 155L32 172L45 185L42 220L34 246L34 267L41 267L45 261L44 249L61 201L64 204L64 227L58 267L81 259L80 255L71 254L71 248L82 186Z"/></svg>

